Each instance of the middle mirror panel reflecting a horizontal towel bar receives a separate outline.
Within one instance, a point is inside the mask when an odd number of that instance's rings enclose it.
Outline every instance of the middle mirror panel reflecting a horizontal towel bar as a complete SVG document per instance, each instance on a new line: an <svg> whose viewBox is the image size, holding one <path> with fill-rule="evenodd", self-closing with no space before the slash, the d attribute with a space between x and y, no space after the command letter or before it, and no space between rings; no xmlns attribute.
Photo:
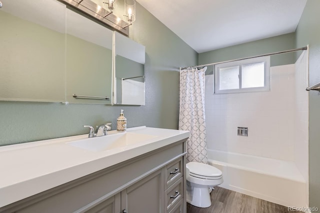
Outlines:
<svg viewBox="0 0 320 213"><path fill-rule="evenodd" d="M66 101L111 104L112 31L66 9Z"/></svg>

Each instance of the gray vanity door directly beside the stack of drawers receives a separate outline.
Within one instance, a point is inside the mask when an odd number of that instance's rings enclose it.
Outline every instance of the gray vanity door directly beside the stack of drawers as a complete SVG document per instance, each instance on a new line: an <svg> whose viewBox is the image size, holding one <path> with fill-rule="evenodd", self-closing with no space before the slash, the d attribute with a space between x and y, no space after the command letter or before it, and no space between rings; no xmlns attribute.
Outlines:
<svg viewBox="0 0 320 213"><path fill-rule="evenodd" d="M163 213L163 176L158 170L121 192L121 213Z"/></svg>

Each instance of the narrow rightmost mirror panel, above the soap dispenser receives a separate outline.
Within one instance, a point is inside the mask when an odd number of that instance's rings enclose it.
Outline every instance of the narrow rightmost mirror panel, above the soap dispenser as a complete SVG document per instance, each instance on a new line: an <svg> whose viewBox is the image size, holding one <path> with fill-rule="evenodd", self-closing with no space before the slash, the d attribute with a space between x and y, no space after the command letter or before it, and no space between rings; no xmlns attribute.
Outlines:
<svg viewBox="0 0 320 213"><path fill-rule="evenodd" d="M144 105L145 47L114 32L113 104Z"/></svg>

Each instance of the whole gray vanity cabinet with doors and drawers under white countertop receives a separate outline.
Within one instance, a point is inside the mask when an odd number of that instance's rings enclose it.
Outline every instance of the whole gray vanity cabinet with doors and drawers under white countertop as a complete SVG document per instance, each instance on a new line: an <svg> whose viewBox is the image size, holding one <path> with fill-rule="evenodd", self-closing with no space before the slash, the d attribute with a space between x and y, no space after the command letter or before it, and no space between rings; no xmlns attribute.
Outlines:
<svg viewBox="0 0 320 213"><path fill-rule="evenodd" d="M0 213L185 213L185 141L7 205Z"/></svg>

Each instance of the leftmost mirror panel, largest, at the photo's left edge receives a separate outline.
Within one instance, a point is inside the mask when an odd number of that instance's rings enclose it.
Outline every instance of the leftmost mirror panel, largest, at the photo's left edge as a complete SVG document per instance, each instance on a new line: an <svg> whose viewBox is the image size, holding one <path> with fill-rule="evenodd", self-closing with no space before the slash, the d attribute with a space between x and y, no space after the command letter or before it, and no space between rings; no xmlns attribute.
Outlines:
<svg viewBox="0 0 320 213"><path fill-rule="evenodd" d="M66 6L1 1L0 100L64 102Z"/></svg>

